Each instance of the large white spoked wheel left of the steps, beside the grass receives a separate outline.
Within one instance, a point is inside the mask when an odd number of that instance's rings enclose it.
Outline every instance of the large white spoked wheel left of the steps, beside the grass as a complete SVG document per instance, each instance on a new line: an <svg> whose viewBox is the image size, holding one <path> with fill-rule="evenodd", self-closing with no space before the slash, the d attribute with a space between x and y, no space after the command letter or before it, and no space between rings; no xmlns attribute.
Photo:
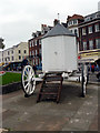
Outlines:
<svg viewBox="0 0 100 133"><path fill-rule="evenodd" d="M22 83L22 89L26 93L24 96L30 96L31 94L33 94L36 89L36 81L34 81L34 72L32 66L26 65L23 68L21 75L21 83Z"/></svg>

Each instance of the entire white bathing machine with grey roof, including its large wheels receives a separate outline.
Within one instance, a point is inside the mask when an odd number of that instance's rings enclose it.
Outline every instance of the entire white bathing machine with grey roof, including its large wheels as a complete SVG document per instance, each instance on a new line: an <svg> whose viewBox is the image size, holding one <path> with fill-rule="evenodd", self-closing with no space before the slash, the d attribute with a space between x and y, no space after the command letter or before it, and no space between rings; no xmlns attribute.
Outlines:
<svg viewBox="0 0 100 133"><path fill-rule="evenodd" d="M72 78L74 71L78 70L77 64L77 44L76 35L71 33L67 28L58 23L42 38L42 73L39 78L36 78L32 66L26 65L22 71L22 89L27 95L31 95L36 89L36 81L42 81L42 85L47 85L48 80L56 80L60 74L60 86L58 90L57 102L62 86L62 79L64 75L67 79ZM83 69L82 69L83 70ZM56 75L53 74L56 73ZM57 74L58 73L58 74ZM67 74L64 74L67 73ZM81 73L80 73L81 74ZM80 75L78 75L80 79ZM87 69L82 71L82 95L86 95L87 84ZM51 82L52 83L52 82ZM50 86L51 88L51 86ZM38 96L38 101L43 93L42 88ZM49 93L50 94L50 93ZM51 93L52 94L52 93Z"/></svg>

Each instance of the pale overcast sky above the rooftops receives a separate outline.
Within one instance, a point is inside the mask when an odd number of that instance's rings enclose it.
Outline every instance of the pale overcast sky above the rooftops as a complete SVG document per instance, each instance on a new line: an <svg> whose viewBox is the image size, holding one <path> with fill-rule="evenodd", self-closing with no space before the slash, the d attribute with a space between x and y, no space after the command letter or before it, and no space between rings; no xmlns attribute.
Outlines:
<svg viewBox="0 0 100 133"><path fill-rule="evenodd" d="M98 11L99 0L0 0L0 37L6 49L28 41L41 24L53 25L74 13L87 16Z"/></svg>

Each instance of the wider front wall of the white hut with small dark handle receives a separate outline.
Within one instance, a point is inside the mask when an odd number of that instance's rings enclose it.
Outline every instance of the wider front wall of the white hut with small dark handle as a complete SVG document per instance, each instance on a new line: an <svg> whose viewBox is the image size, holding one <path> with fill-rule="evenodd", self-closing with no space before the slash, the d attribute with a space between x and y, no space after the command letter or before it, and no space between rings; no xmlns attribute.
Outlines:
<svg viewBox="0 0 100 133"><path fill-rule="evenodd" d="M49 37L42 40L42 71L64 71L63 37Z"/></svg>

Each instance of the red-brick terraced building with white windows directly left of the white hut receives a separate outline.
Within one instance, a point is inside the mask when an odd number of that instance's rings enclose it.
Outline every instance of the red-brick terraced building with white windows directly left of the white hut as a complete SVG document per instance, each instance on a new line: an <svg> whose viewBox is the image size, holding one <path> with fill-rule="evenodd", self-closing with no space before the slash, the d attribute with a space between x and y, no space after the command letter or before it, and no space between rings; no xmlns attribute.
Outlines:
<svg viewBox="0 0 100 133"><path fill-rule="evenodd" d="M42 37L51 30L52 27L47 24L41 24L41 31L37 31L32 33L32 39L28 41L29 44L29 60L31 65L41 66L42 65L42 57L41 57L41 39Z"/></svg>

